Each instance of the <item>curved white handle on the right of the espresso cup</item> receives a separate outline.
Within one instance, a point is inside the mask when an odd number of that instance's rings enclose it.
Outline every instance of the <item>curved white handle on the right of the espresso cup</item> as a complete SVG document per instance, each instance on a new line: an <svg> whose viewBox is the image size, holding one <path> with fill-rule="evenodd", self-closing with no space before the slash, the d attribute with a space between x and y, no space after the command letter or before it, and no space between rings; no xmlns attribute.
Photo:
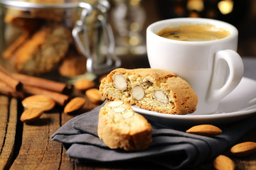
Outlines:
<svg viewBox="0 0 256 170"><path fill-rule="evenodd" d="M225 75L229 70L228 76ZM233 50L220 50L216 52L213 75L208 94L208 102L219 101L240 83L244 72L242 58ZM219 82L223 82L219 84Z"/></svg>

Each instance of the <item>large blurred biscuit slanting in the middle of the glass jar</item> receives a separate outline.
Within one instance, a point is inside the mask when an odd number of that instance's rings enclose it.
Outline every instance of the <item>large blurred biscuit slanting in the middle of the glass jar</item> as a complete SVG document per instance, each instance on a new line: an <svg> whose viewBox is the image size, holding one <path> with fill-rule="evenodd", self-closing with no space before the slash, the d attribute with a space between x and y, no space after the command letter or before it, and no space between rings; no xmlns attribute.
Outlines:
<svg viewBox="0 0 256 170"><path fill-rule="evenodd" d="M68 28L58 24L43 26L33 34L23 33L7 47L3 56L16 72L41 74L55 68L65 57L71 42Z"/></svg>

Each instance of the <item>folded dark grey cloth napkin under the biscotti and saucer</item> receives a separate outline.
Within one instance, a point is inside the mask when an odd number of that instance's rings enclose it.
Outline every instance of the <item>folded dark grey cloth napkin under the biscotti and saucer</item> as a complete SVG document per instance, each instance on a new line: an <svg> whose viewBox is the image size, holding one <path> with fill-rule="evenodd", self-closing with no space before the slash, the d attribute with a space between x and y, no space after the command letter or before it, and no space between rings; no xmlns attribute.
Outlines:
<svg viewBox="0 0 256 170"><path fill-rule="evenodd" d="M186 127L162 128L151 123L153 141L150 147L142 151L127 152L122 149L110 149L97 137L97 120L101 107L76 116L52 135L52 140L62 142L68 157L80 162L106 164L139 161L146 162L147 165L158 164L169 169L179 169L196 166L216 157L248 130L256 127L256 116L252 116L238 123L220 127L223 130L221 135L204 137L186 133Z"/></svg>

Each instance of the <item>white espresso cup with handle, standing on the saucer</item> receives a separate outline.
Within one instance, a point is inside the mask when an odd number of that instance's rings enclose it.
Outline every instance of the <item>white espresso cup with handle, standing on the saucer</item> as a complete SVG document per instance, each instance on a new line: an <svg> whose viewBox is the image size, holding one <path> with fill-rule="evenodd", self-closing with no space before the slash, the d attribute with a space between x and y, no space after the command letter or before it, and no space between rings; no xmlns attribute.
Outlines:
<svg viewBox="0 0 256 170"><path fill-rule="evenodd" d="M156 33L164 28L210 24L230 32L219 40L181 41ZM210 114L242 79L244 67L238 46L238 30L223 21L206 18L174 18L152 23L146 29L146 50L151 68L166 69L186 80L198 96L193 114Z"/></svg>

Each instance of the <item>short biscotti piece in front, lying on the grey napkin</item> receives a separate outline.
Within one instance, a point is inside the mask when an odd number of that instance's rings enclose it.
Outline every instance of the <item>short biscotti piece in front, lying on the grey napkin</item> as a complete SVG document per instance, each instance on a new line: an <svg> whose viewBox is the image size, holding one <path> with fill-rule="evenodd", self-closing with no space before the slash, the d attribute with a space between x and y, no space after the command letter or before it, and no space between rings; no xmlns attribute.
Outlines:
<svg viewBox="0 0 256 170"><path fill-rule="evenodd" d="M100 108L97 133L111 149L146 149L152 141L151 132L146 118L124 101L110 101Z"/></svg>

